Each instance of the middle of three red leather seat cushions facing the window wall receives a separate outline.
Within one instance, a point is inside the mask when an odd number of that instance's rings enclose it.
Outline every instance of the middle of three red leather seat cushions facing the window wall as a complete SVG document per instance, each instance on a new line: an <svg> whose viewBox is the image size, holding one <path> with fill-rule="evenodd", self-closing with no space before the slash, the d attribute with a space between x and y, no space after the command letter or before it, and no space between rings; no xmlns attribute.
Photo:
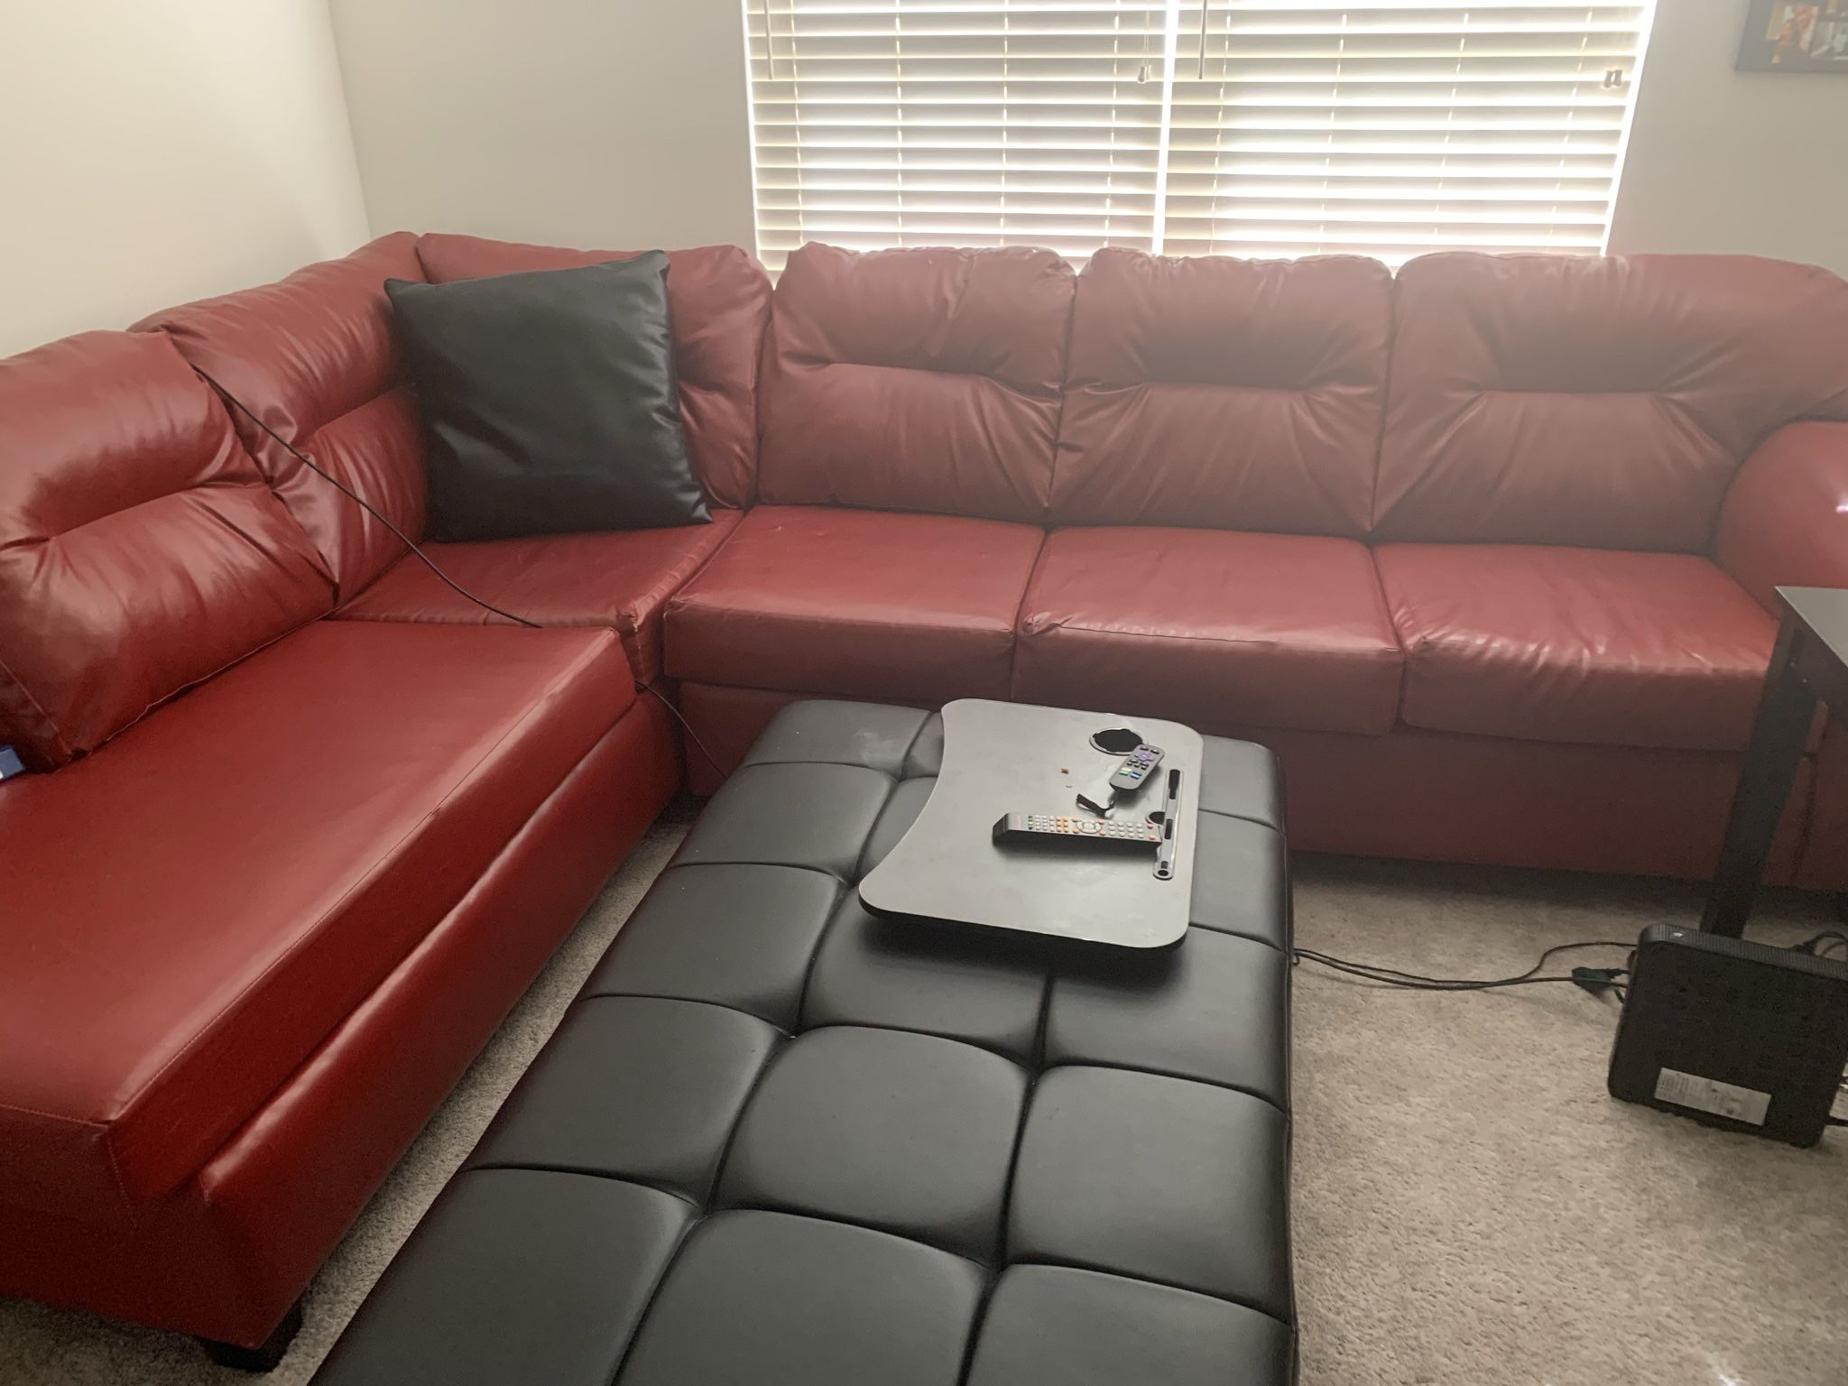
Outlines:
<svg viewBox="0 0 1848 1386"><path fill-rule="evenodd" d="M1353 540L1066 529L1020 606L1024 702L1321 732L1386 732L1399 641Z"/></svg>

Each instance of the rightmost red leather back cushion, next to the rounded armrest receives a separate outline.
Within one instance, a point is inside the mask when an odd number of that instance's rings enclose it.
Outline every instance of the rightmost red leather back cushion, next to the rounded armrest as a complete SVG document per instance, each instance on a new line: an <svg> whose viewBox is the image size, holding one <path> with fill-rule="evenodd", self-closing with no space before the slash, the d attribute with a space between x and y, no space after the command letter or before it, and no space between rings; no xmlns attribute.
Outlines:
<svg viewBox="0 0 1848 1386"><path fill-rule="evenodd" d="M1399 270L1380 540L1696 553L1745 456L1848 399L1848 285L1743 255Z"/></svg>

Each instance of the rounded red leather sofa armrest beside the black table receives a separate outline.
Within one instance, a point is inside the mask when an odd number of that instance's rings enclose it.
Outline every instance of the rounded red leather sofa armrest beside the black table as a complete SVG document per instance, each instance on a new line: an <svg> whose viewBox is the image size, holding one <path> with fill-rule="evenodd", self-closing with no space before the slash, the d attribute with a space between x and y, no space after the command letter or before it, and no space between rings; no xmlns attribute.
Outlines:
<svg viewBox="0 0 1848 1386"><path fill-rule="evenodd" d="M1713 558L1770 612L1774 588L1848 588L1848 423L1789 423L1739 469Z"/></svg>

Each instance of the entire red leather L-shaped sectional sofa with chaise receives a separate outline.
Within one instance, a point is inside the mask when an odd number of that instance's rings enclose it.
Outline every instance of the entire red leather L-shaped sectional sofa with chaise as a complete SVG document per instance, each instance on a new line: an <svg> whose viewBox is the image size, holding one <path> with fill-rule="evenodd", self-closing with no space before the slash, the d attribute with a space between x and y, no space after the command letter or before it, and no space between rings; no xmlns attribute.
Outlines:
<svg viewBox="0 0 1848 1386"><path fill-rule="evenodd" d="M682 778L793 697L1275 747L1303 848L1698 876L1848 586L1848 285L811 246L669 275L715 521L429 545L384 237L0 362L0 1294L261 1343ZM488 628L484 628L488 626ZM695 787L715 772L686 761ZM1848 732L1780 880L1848 887Z"/></svg>

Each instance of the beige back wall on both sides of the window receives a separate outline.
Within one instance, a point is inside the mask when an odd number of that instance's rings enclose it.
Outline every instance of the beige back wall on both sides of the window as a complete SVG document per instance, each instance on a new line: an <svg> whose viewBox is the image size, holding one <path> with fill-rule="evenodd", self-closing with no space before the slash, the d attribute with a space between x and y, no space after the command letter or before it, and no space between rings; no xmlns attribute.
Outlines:
<svg viewBox="0 0 1848 1386"><path fill-rule="evenodd" d="M739 0L331 0L373 227L752 244ZM1733 72L1746 0L1660 0L1613 251L1848 272L1848 78Z"/></svg>

